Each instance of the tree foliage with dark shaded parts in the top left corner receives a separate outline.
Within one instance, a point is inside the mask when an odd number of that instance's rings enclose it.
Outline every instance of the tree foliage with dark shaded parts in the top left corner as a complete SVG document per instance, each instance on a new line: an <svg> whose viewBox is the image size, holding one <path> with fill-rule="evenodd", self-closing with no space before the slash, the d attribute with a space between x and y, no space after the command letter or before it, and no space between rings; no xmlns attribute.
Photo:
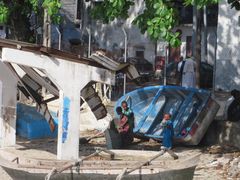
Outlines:
<svg viewBox="0 0 240 180"><path fill-rule="evenodd" d="M33 41L29 17L34 13L38 19L43 17L47 9L52 23L60 22L60 0L0 0L0 24L5 24L11 30L14 39Z"/></svg>

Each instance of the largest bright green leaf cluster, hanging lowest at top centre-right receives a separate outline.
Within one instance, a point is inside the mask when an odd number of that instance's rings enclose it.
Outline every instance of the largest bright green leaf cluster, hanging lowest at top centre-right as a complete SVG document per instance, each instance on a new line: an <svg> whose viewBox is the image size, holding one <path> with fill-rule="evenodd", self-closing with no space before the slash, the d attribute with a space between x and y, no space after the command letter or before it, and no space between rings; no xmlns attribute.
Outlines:
<svg viewBox="0 0 240 180"><path fill-rule="evenodd" d="M173 7L163 0L146 0L145 3L145 10L133 23L141 29L141 32L147 32L152 40L163 39L171 46L179 46L179 34L172 32L172 28L177 23Z"/></svg>

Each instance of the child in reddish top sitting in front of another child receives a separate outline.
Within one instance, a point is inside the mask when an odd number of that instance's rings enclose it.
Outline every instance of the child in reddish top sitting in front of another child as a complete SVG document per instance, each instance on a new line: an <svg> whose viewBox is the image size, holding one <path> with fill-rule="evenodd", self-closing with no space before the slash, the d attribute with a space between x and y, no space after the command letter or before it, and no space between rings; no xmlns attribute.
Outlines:
<svg viewBox="0 0 240 180"><path fill-rule="evenodd" d="M116 112L119 115L119 119L115 120L115 126L121 135L123 146L130 144L133 141L132 126L128 117L123 114L122 108L117 107Z"/></svg>

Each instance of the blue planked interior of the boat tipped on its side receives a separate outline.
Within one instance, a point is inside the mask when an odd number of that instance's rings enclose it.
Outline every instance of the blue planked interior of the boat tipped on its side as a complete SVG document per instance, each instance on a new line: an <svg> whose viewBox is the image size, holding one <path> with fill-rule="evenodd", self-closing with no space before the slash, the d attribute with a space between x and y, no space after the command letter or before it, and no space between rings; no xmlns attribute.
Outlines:
<svg viewBox="0 0 240 180"><path fill-rule="evenodd" d="M116 102L115 109L121 106L123 100L127 100L135 117L133 132L160 140L163 138L163 129L160 126L163 114L170 113L174 136L181 138L182 131L191 130L209 98L210 92L203 89L150 86L127 93Z"/></svg>

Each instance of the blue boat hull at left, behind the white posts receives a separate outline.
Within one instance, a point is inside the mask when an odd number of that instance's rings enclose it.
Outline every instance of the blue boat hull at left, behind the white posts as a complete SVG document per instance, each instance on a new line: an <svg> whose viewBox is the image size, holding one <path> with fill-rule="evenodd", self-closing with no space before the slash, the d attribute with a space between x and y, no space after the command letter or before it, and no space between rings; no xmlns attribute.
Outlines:
<svg viewBox="0 0 240 180"><path fill-rule="evenodd" d="M16 134L31 139L57 137L58 119L56 113L51 112L55 129L51 132L49 124L44 116L36 111L35 107L25 104L17 104Z"/></svg>

